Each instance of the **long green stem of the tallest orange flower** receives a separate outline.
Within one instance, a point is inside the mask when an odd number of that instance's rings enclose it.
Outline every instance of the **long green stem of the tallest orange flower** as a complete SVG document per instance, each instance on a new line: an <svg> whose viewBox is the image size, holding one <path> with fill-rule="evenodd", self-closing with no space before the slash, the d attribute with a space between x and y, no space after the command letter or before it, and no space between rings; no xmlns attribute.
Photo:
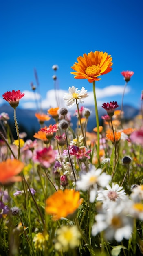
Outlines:
<svg viewBox="0 0 143 256"><path fill-rule="evenodd" d="M93 95L94 95L94 101L95 101L95 115L96 115L96 124L97 124L97 160L98 160L98 164L100 165L100 157L99 157L100 133L99 133L99 117L98 117L97 99L96 99L96 92L95 92L95 81L93 81Z"/></svg>

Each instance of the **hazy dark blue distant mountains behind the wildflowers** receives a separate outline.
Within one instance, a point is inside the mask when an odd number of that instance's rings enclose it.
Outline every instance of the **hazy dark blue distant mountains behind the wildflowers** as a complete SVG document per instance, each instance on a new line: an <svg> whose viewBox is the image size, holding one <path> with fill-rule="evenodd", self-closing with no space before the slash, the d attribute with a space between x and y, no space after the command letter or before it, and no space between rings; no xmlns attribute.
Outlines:
<svg viewBox="0 0 143 256"><path fill-rule="evenodd" d="M91 115L89 117L88 121L88 127L87 130L91 132L93 128L96 126L96 118L95 118L95 107L94 106L88 106L88 108L91 111ZM132 119L136 115L139 114L139 110L129 106L129 105L124 105L123 106L123 111L124 111L124 119L126 121ZM0 106L0 113L6 112L9 114L10 120L9 122L14 124L14 119L13 119L13 108L10 105L4 104ZM28 109L22 109L22 108L17 108L16 109L16 116L17 116L17 121L18 121L18 126L22 126L25 128L26 131L28 132L37 132L40 129L40 124L37 121L37 118L35 117L35 110L28 110ZM73 116L74 110L70 108L69 112L71 112L71 118L72 118L72 123L73 123L73 129L76 128L77 125L77 117ZM45 110L46 113L46 110ZM106 110L103 108L99 108L99 122L102 122L101 116L106 115ZM49 124L54 124L54 120L51 118L50 121L46 122L47 126ZM23 130L22 130L23 131ZM20 131L21 132L21 131Z"/></svg>

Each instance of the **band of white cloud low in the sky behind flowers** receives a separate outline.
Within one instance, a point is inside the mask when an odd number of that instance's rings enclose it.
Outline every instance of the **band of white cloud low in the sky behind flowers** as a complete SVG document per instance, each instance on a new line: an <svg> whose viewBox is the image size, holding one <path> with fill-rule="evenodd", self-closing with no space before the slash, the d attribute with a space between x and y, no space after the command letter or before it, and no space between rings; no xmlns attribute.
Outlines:
<svg viewBox="0 0 143 256"><path fill-rule="evenodd" d="M103 103L103 99L107 98L107 97L112 97L112 96L120 96L123 94L123 89L124 86L123 85L110 85L107 86L105 88L96 88L96 97L97 97L97 105L101 106ZM65 103L63 100L64 97L64 93L67 93L67 90L57 90L55 92L54 89L49 90L46 93L46 98L45 99L41 99L41 106L42 109L48 109L48 108L55 108L57 106L59 107L65 107ZM125 89L125 94L128 94L128 92L130 92L130 87L126 87ZM35 94L33 92L30 91L24 91L25 93L25 97L23 97L22 99L24 99L24 101L28 101L26 103L22 102L22 107L23 108L36 108L36 102L35 99L38 101L40 100L40 95L39 94ZM93 92L92 91L88 91L88 97L86 99L84 99L84 106L89 106L89 105L94 105L94 96L93 96ZM117 101L116 99L114 101Z"/></svg>

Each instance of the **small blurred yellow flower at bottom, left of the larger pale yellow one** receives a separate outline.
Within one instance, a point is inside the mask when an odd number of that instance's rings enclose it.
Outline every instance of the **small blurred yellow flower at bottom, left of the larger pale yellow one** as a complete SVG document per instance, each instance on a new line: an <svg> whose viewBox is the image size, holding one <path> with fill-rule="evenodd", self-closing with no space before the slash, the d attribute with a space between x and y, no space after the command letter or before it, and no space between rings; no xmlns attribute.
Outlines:
<svg viewBox="0 0 143 256"><path fill-rule="evenodd" d="M35 249L39 249L40 251L45 249L45 243L48 241L49 235L46 232L43 233L37 233L34 238L34 247Z"/></svg>

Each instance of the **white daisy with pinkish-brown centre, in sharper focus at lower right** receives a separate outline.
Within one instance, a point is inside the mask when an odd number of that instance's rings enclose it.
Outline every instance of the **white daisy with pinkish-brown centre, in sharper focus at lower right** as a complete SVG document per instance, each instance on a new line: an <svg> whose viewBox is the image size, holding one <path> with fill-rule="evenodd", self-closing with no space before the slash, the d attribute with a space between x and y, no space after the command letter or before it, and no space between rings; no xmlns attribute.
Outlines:
<svg viewBox="0 0 143 256"><path fill-rule="evenodd" d="M97 191L97 201L103 202L103 208L108 209L111 207L111 204L114 204L117 200L126 199L126 193L122 186L112 183L112 187L107 185L106 188L106 190Z"/></svg>

